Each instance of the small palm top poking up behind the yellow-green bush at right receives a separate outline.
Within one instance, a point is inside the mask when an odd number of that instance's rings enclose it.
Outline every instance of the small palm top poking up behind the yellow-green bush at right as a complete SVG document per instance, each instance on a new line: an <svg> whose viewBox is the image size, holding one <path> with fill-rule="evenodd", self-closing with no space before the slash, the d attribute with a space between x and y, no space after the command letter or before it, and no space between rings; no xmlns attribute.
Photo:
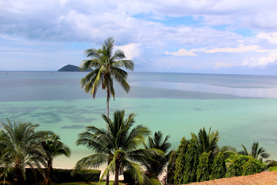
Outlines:
<svg viewBox="0 0 277 185"><path fill-rule="evenodd" d="M238 152L238 154L252 156L255 159L263 161L263 158L267 159L270 154L265 152L264 147L259 148L259 142L253 142L251 152L247 152L245 146L240 144L244 150Z"/></svg>

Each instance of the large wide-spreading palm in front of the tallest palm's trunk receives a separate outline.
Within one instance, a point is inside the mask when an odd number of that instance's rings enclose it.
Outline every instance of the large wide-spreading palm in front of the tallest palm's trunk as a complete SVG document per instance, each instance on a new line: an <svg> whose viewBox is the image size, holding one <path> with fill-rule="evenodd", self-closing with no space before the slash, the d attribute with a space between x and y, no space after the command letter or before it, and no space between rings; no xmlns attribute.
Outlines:
<svg viewBox="0 0 277 185"><path fill-rule="evenodd" d="M78 173L81 169L98 168L108 161L108 166L99 182L113 172L114 185L118 185L119 170L125 168L140 184L149 183L143 169L135 162L146 160L146 156L152 153L162 154L162 152L157 149L137 149L140 145L145 145L145 139L150 131L141 124L132 128L136 115L131 113L124 119L124 114L124 110L116 110L113 121L102 114L110 130L109 134L104 128L87 126L86 131L78 135L76 145L84 145L96 154L79 160L72 174Z"/></svg>

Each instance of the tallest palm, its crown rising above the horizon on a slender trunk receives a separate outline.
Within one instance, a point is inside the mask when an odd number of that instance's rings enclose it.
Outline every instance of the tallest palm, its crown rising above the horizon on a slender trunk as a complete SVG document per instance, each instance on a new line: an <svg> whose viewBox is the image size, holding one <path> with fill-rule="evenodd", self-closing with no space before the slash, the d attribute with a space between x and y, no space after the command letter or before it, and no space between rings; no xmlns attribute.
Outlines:
<svg viewBox="0 0 277 185"><path fill-rule="evenodd" d="M114 99L113 79L128 93L130 86L126 79L128 73L121 68L134 70L134 63L131 60L125 60L125 54L121 49L117 49L113 53L114 47L113 37L108 37L101 48L89 48L84 51L85 57L91 57L89 60L83 60L80 64L82 70L94 69L80 80L81 87L86 93L96 96L97 89L102 86L102 89L107 91L107 118L109 118L109 100L110 95Z"/></svg>

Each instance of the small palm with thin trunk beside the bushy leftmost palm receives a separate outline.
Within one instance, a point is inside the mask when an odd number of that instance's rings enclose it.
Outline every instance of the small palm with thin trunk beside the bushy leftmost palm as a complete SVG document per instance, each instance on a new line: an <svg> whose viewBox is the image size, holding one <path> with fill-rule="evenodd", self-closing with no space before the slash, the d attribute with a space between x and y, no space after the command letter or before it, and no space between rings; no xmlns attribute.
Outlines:
<svg viewBox="0 0 277 185"><path fill-rule="evenodd" d="M50 185L50 171L53 168L53 159L59 155L70 157L71 151L69 146L60 142L60 136L57 134L46 135L41 145L46 152L45 160L47 162L46 185Z"/></svg>

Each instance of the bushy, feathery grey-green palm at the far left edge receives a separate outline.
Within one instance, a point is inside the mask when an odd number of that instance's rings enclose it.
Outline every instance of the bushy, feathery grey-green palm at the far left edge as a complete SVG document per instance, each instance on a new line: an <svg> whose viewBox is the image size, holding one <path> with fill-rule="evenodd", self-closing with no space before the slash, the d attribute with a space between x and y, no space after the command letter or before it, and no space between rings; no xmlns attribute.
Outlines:
<svg viewBox="0 0 277 185"><path fill-rule="evenodd" d="M39 124L31 122L12 124L7 119L7 124L1 123L0 145L5 146L1 153L3 168L1 176L7 177L11 168L14 168L17 184L25 184L25 168L37 168L41 170L41 164L45 165L45 152L40 145L45 134L53 134L52 131L35 131Z"/></svg>

